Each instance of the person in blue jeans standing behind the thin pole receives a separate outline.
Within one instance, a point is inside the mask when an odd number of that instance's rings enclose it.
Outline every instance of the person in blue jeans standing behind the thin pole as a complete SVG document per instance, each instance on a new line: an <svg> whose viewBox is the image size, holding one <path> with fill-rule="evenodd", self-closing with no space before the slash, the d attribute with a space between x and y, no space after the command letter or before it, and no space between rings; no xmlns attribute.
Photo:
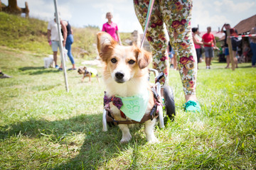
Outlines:
<svg viewBox="0 0 256 170"><path fill-rule="evenodd" d="M61 25L61 33L63 35L63 47L65 47L66 50L68 50L68 57L70 59L70 62L72 64L72 68L68 70L75 70L75 60L71 52L71 45L74 42L73 38L73 30L71 29L70 23L68 21L60 20ZM62 70L62 63L60 65L60 71Z"/></svg>

